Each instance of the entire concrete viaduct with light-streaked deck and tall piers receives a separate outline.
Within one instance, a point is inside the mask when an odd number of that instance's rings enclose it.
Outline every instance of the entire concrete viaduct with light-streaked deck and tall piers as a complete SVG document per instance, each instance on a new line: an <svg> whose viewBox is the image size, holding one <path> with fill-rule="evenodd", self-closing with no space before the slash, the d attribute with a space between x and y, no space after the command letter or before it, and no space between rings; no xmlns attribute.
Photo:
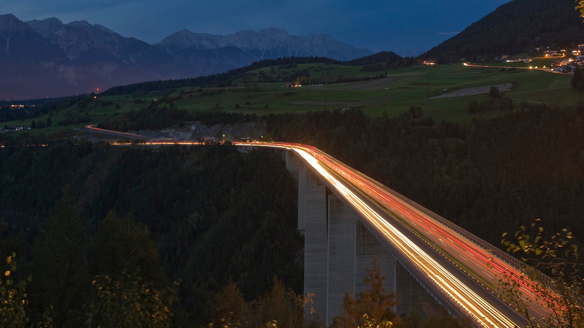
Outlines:
<svg viewBox="0 0 584 328"><path fill-rule="evenodd" d="M199 143L149 140L138 146L168 144ZM312 146L234 144L243 152L276 149L296 178L304 293L314 293L312 307L327 326L341 312L345 292L363 290L374 257L385 289L401 295L398 314L440 303L474 327L527 325L499 295L498 279L519 276L519 260ZM524 298L533 301L531 283L522 283ZM545 312L535 301L530 310L536 317Z"/></svg>

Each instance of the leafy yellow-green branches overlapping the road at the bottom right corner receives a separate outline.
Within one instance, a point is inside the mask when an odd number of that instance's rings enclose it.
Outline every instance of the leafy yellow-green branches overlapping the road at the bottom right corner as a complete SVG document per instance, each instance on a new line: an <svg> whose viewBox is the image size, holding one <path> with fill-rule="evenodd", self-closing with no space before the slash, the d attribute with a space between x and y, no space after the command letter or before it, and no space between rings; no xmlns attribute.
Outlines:
<svg viewBox="0 0 584 328"><path fill-rule="evenodd" d="M530 231L522 226L513 240L503 239L507 252L517 254L527 264L520 275L504 273L499 278L503 295L517 313L526 318L529 327L584 327L582 302L583 280L578 245L571 232L545 236L538 221ZM503 234L503 238L506 237ZM543 273L548 273L550 276ZM551 277L551 279L550 279ZM531 289L530 295L522 287ZM547 312L537 315L531 305L540 303Z"/></svg>

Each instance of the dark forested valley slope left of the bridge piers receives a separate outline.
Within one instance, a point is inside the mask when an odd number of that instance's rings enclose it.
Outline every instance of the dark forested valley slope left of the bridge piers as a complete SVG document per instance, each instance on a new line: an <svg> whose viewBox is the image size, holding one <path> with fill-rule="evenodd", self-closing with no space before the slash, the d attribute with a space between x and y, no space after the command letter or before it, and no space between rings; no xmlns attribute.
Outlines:
<svg viewBox="0 0 584 328"><path fill-rule="evenodd" d="M269 291L276 276L302 291L296 190L273 152L8 146L0 168L0 253L4 260L16 252L13 277L33 277L34 321L47 309L55 327L91 318L96 327L108 311L126 316L123 306L100 308L106 295L95 284L111 289L116 281L139 292L125 284L140 279L158 293L141 298L154 312L168 307L168 325L156 327L206 325L228 281L247 301Z"/></svg>

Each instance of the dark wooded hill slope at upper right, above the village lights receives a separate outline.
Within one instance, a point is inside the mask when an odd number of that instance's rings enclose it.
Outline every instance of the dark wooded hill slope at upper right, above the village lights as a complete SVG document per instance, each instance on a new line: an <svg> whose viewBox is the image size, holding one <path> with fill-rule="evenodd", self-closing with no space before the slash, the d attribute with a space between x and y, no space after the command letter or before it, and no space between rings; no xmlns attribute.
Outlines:
<svg viewBox="0 0 584 328"><path fill-rule="evenodd" d="M423 54L438 62L527 52L537 46L584 42L584 23L573 0L515 0L499 6L457 36Z"/></svg>

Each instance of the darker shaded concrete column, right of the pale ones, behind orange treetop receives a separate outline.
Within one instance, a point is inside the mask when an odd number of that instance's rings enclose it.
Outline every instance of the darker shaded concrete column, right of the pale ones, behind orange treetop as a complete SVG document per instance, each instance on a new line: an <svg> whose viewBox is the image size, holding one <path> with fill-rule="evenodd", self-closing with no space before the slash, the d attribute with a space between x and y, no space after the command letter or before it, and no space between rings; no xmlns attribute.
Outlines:
<svg viewBox="0 0 584 328"><path fill-rule="evenodd" d="M363 224L357 224L356 243L356 271L355 292L363 291L367 286L363 283L363 277L367 275L367 269L371 268L373 258L377 259L381 275L385 277L383 287L385 291L395 292L394 275L397 260L388 252L381 242L377 240Z"/></svg>

